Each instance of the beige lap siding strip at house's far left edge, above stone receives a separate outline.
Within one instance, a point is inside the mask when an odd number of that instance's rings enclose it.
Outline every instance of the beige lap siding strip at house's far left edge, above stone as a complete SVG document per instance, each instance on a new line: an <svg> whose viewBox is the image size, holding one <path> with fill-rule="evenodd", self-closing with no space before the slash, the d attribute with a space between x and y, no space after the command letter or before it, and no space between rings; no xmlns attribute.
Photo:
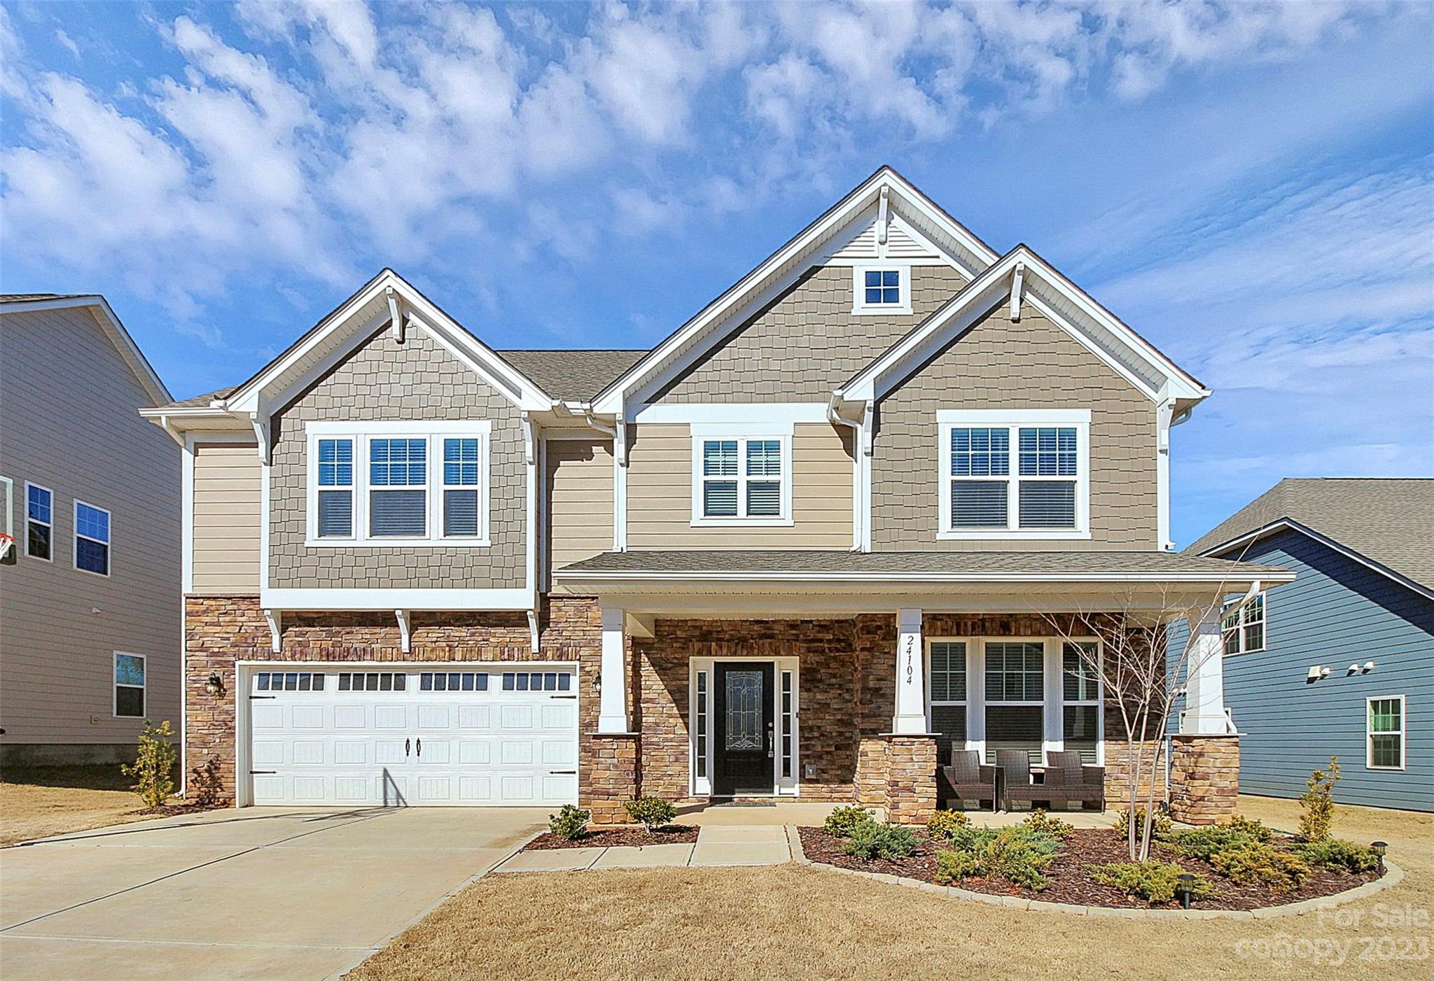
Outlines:
<svg viewBox="0 0 1434 981"><path fill-rule="evenodd" d="M262 474L252 443L195 445L191 593L260 591Z"/></svg>

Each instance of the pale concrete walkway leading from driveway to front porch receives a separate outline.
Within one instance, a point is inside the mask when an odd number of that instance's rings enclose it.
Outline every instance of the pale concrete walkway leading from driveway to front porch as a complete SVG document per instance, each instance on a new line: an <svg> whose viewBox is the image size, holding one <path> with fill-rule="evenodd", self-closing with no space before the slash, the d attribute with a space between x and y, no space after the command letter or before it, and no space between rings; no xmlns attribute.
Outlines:
<svg viewBox="0 0 1434 981"><path fill-rule="evenodd" d="M582 869L782 865L792 861L780 825L704 825L693 845L614 845L543 848L518 852L495 872L576 872Z"/></svg>

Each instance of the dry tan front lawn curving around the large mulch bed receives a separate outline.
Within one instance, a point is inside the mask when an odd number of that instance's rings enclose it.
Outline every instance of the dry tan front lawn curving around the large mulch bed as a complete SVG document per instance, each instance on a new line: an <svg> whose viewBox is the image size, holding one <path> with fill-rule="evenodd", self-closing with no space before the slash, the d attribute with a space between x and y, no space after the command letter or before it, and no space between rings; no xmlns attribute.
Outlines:
<svg viewBox="0 0 1434 981"><path fill-rule="evenodd" d="M1243 798L1240 809L1296 826L1291 801ZM1434 815L1341 808L1335 833L1390 842L1404 882L1338 917L1238 922L1005 909L800 865L492 875L347 978L1428 977ZM1423 924L1380 921L1405 904ZM1382 951L1381 938L1392 941ZM1250 947L1282 939L1296 955ZM1400 941L1425 960L1380 957Z"/></svg>

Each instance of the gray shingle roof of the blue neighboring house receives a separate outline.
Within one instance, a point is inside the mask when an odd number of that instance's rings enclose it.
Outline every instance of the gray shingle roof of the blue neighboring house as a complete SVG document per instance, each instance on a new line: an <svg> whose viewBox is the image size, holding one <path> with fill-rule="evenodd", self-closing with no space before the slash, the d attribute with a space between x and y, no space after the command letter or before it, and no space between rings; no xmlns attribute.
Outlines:
<svg viewBox="0 0 1434 981"><path fill-rule="evenodd" d="M1288 477L1186 553L1210 551L1285 518L1420 586L1434 587L1434 478Z"/></svg>

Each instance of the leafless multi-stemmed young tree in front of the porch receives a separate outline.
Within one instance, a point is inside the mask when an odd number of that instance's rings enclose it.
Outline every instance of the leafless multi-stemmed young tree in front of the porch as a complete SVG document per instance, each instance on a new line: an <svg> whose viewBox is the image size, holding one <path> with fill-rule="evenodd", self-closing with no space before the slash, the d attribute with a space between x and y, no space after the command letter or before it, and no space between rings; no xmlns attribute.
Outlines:
<svg viewBox="0 0 1434 981"><path fill-rule="evenodd" d="M1150 859L1154 826L1156 786L1164 765L1166 728L1176 699L1184 695L1184 679L1199 673L1212 656L1220 653L1199 644L1197 624L1209 616L1239 617L1256 596L1255 587L1242 599L1225 606L1226 583L1210 584L1192 601L1189 586L1179 593L1172 586L1154 590L1127 589L1090 609L1061 613L1040 612L1041 617L1070 646L1080 652L1087 670L1100 679L1107 706L1120 712L1126 749L1126 842L1130 859ZM1184 642L1177 643L1173 622L1186 620ZM1098 646L1080 643L1096 636ZM1222 634L1223 636L1223 634ZM1141 791L1144 785L1144 791ZM1144 821L1139 819L1144 813Z"/></svg>

